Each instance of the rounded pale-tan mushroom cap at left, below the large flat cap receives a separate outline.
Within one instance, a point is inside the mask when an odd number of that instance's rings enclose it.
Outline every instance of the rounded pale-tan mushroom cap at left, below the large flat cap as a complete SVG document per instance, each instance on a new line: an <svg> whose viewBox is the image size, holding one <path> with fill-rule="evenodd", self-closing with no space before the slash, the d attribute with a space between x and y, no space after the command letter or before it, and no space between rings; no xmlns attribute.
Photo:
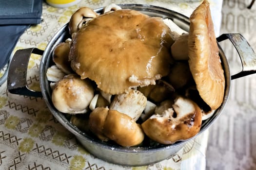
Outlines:
<svg viewBox="0 0 256 170"><path fill-rule="evenodd" d="M68 74L59 80L52 92L52 102L63 113L86 113L94 97L90 80L81 80L77 74Z"/></svg>

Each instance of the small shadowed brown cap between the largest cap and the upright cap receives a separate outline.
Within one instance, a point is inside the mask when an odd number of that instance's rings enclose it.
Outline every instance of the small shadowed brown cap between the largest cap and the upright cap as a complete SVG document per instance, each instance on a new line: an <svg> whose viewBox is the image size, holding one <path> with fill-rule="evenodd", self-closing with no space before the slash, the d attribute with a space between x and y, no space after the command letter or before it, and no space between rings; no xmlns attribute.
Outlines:
<svg viewBox="0 0 256 170"><path fill-rule="evenodd" d="M180 35L171 46L172 56L175 60L188 60L188 34Z"/></svg>

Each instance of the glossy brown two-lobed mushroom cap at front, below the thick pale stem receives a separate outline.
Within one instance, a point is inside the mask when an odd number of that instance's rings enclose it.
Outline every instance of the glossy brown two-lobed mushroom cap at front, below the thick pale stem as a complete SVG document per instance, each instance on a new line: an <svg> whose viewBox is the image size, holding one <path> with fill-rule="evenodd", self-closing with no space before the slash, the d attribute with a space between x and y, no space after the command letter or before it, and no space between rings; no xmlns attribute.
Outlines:
<svg viewBox="0 0 256 170"><path fill-rule="evenodd" d="M89 128L97 136L114 140L124 147L136 146L144 139L140 125L134 119L105 107L97 107L92 111Z"/></svg>

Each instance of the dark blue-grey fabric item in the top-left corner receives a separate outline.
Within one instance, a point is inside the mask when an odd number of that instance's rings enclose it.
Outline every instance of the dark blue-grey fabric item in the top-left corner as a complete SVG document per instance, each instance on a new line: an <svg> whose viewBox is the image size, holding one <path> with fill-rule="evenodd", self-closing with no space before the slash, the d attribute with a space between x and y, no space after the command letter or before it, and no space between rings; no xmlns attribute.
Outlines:
<svg viewBox="0 0 256 170"><path fill-rule="evenodd" d="M0 69L8 62L20 35L39 24L42 0L0 0Z"/></svg>

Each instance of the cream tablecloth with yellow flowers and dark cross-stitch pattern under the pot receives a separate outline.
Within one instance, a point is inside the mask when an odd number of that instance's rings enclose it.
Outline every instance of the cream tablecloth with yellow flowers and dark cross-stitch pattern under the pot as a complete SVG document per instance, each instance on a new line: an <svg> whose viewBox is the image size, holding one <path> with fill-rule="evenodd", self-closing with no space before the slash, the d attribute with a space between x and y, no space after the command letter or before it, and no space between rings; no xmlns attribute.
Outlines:
<svg viewBox="0 0 256 170"><path fill-rule="evenodd" d="M52 36L67 23L79 7L93 9L110 3L152 4L186 16L200 1L172 0L81 0L68 8L54 8L43 2L43 21L31 26L14 50L37 47L44 50ZM222 0L210 0L216 34L219 34ZM27 72L31 89L39 87L39 55L32 54ZM1 70L2 76L7 66ZM124 167L102 161L88 153L52 116L42 98L10 94L6 82L0 86L0 169L1 170L201 170L205 169L208 131L190 141L173 157L143 167Z"/></svg>

